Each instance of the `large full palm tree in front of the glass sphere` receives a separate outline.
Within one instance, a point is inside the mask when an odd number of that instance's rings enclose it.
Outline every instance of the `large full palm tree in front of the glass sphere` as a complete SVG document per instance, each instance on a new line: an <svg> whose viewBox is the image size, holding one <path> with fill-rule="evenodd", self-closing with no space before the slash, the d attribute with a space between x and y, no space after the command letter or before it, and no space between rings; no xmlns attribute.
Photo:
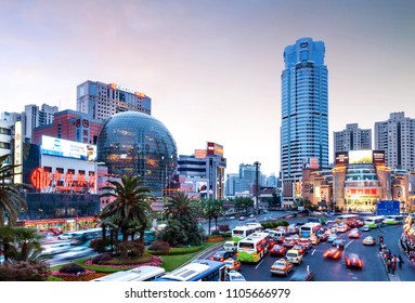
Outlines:
<svg viewBox="0 0 415 303"><path fill-rule="evenodd" d="M101 197L114 197L100 214L100 219L107 221L113 218L122 232L122 241L128 240L129 228L134 222L140 234L140 241L144 242L144 230L148 227L147 213L152 210L150 193L145 182L139 175L122 176L121 182L108 181L111 185L104 186Z"/></svg>

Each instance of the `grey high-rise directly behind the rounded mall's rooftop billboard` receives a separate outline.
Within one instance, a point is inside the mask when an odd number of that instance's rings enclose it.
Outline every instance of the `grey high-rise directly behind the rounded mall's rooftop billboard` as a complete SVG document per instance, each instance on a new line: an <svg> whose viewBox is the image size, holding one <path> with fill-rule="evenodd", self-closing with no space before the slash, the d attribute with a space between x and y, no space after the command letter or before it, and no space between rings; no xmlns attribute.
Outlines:
<svg viewBox="0 0 415 303"><path fill-rule="evenodd" d="M334 155L338 152L365 149L372 149L371 129L362 130L358 123L351 123L346 124L346 130L334 132Z"/></svg>

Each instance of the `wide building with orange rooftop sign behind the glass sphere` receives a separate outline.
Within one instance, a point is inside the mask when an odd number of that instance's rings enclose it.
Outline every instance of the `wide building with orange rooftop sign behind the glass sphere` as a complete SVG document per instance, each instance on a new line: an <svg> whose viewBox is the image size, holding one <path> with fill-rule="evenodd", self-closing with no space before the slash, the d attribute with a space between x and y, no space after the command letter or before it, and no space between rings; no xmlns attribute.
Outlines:
<svg viewBox="0 0 415 303"><path fill-rule="evenodd" d="M121 111L152 115L152 100L142 92L116 83L88 80L77 87L77 110L96 120L106 120Z"/></svg>

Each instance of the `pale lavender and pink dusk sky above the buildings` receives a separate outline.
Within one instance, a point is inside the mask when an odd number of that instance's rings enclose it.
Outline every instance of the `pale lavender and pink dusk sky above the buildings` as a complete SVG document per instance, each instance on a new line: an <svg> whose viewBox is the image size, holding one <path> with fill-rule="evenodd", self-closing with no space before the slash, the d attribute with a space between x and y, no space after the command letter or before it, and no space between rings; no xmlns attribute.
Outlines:
<svg viewBox="0 0 415 303"><path fill-rule="evenodd" d="M179 155L223 146L280 172L284 48L324 41L333 132L415 118L412 0L0 0L0 113L76 110L76 87L115 82L152 98ZM374 136L374 133L373 133Z"/></svg>

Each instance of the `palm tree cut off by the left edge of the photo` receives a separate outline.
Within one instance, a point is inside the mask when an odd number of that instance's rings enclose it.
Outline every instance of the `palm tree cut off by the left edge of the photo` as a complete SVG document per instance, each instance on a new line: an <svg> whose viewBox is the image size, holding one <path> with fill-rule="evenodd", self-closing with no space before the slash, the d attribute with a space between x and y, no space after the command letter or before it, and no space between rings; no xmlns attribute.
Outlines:
<svg viewBox="0 0 415 303"><path fill-rule="evenodd" d="M26 200L20 196L17 187L13 183L16 174L14 169L18 166L4 163L10 156L0 157L0 226L4 226L5 216L9 218L9 225L14 226L21 210L27 209Z"/></svg>

